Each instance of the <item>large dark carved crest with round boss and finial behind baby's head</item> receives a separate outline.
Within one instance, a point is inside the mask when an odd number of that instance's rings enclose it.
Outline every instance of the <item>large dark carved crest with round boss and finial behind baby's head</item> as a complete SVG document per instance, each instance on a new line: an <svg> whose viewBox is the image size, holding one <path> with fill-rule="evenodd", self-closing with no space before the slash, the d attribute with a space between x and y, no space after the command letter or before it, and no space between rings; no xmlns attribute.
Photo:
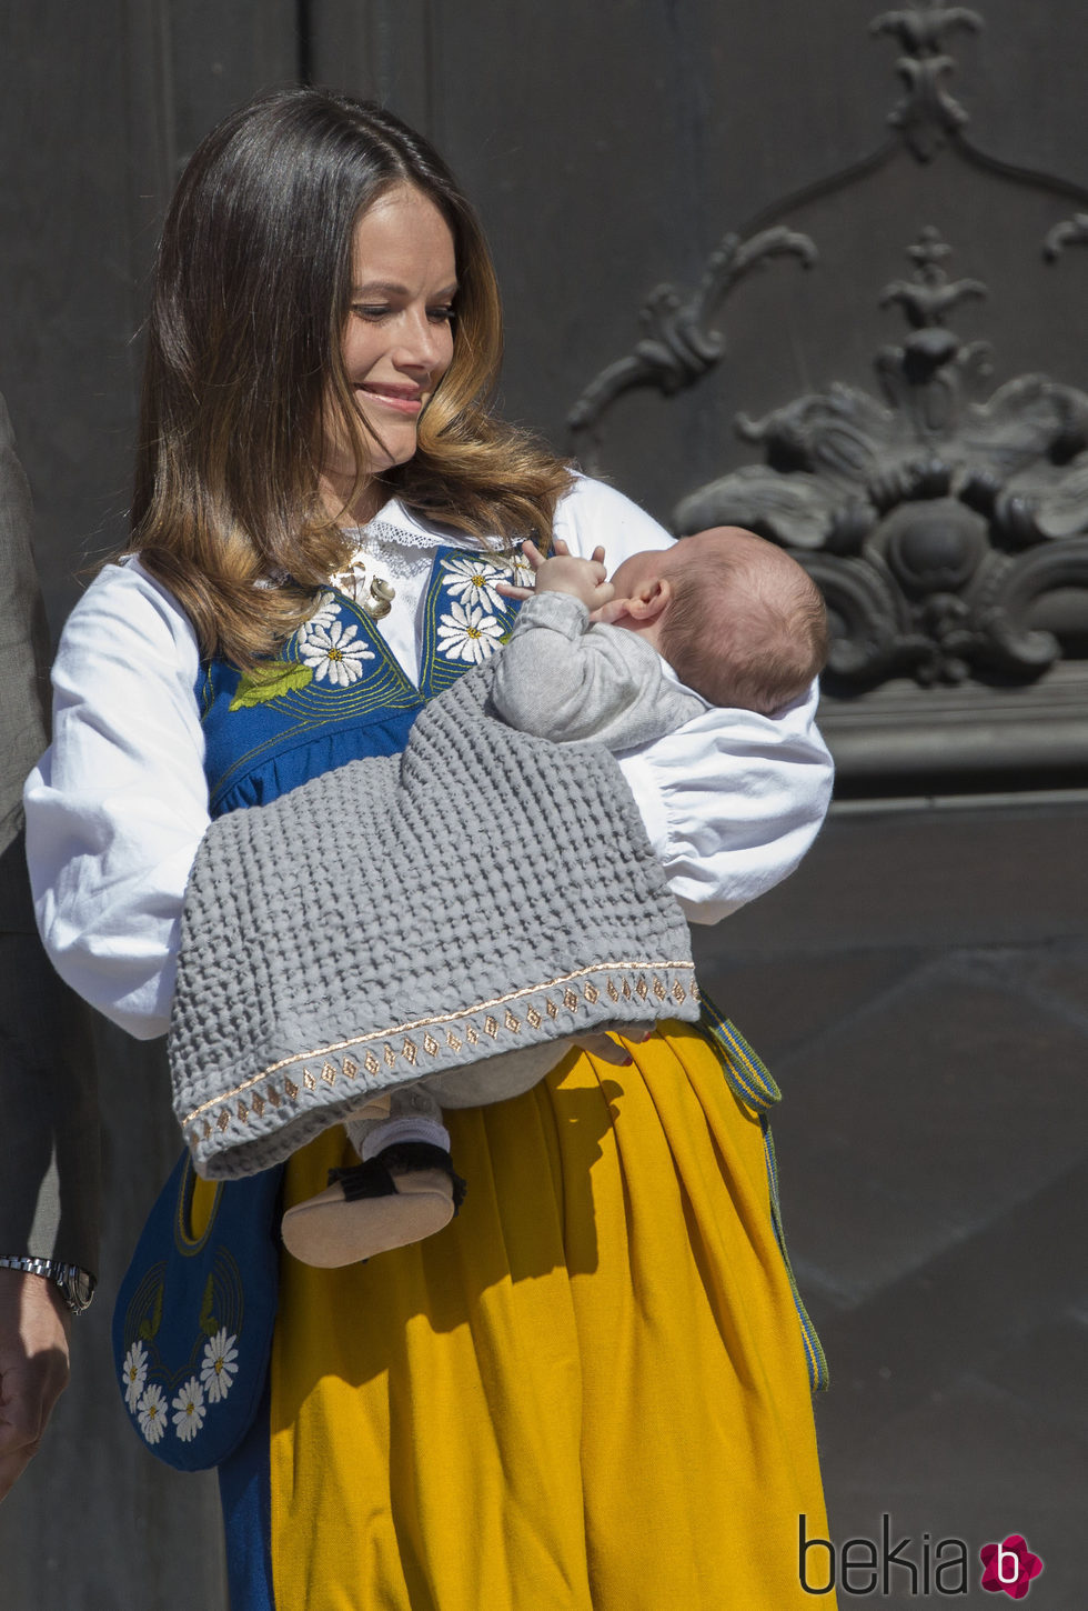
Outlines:
<svg viewBox="0 0 1088 1611"><path fill-rule="evenodd" d="M764 464L674 512L678 532L748 525L797 553L827 599L843 690L903 673L1038 677L1059 644L1032 628L1032 606L1088 588L1088 395L1020 375L979 400L990 348L945 321L987 288L950 279L948 253L922 230L914 277L882 295L909 324L877 353L882 400L837 383L742 416Z"/></svg>

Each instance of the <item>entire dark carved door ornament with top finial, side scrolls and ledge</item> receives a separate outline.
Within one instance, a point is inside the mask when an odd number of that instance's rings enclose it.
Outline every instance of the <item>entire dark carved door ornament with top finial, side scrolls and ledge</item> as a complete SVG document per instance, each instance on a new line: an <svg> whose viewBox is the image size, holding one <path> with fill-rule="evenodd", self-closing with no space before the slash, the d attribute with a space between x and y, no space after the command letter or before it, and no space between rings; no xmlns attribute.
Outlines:
<svg viewBox="0 0 1088 1611"><path fill-rule="evenodd" d="M1088 245L1088 192L991 158L967 137L967 113L948 89L950 48L982 27L975 8L940 0L872 19L871 35L900 47L906 93L888 113L892 135L769 206L750 238L726 235L694 292L661 285L652 293L644 338L591 380L570 412L587 469L602 469L602 430L620 393L674 395L707 385L727 362L715 321L748 267L789 255L814 266L819 282L813 219L832 195L842 216L843 193L858 185L859 198L871 198L876 176L888 169L917 208L922 192L903 184L905 155L922 174L943 156L964 164L964 185L974 176L1030 192L1033 217L1040 197L1059 200L1065 217L1038 243L1040 274L1065 248ZM953 192L946 180L933 187L930 217L946 219ZM798 216L808 234L795 227ZM917 211L905 243L916 221ZM761 462L682 496L673 525L678 533L753 527L790 549L822 588L832 649L821 722L840 778L885 791L905 775L1083 780L1088 393L1038 372L995 383L990 345L951 327L958 308L987 298L987 285L953 277L950 253L930 224L908 246L908 274L885 287L880 304L905 319L906 333L876 353L877 387L837 380L763 419L740 414L737 432L760 448Z"/></svg>

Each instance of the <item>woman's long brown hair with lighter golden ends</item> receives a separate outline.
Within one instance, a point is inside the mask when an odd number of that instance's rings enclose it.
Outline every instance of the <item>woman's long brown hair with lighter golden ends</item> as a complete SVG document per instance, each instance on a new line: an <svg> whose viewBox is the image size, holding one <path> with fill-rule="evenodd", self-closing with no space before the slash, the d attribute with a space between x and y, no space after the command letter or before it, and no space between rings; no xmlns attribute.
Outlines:
<svg viewBox="0 0 1088 1611"><path fill-rule="evenodd" d="M380 106L290 90L227 118L171 203L155 267L129 553L188 614L204 656L240 665L306 619L351 541L319 498L338 411L367 482L341 356L359 217L415 185L454 235L454 354L407 464L377 480L478 538L550 538L570 470L497 420L502 314L476 216L438 153Z"/></svg>

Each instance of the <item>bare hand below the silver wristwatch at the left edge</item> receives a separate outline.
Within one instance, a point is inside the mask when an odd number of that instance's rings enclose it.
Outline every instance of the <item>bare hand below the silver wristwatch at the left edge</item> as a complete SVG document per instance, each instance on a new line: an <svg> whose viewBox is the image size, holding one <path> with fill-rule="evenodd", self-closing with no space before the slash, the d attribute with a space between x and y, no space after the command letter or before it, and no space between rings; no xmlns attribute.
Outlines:
<svg viewBox="0 0 1088 1611"><path fill-rule="evenodd" d="M0 1268L0 1500L37 1453L68 1385L71 1323L55 1281Z"/></svg>

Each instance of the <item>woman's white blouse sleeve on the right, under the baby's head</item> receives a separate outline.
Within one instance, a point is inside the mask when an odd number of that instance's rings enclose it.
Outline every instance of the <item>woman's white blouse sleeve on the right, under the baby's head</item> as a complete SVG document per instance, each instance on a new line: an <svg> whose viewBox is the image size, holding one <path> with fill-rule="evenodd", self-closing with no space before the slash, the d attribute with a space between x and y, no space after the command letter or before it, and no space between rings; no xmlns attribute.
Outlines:
<svg viewBox="0 0 1088 1611"><path fill-rule="evenodd" d="M578 480L555 535L605 548L608 570L673 538L600 482ZM793 872L830 802L832 762L816 730L816 683L776 717L711 709L620 757L650 844L690 923L716 923Z"/></svg>

